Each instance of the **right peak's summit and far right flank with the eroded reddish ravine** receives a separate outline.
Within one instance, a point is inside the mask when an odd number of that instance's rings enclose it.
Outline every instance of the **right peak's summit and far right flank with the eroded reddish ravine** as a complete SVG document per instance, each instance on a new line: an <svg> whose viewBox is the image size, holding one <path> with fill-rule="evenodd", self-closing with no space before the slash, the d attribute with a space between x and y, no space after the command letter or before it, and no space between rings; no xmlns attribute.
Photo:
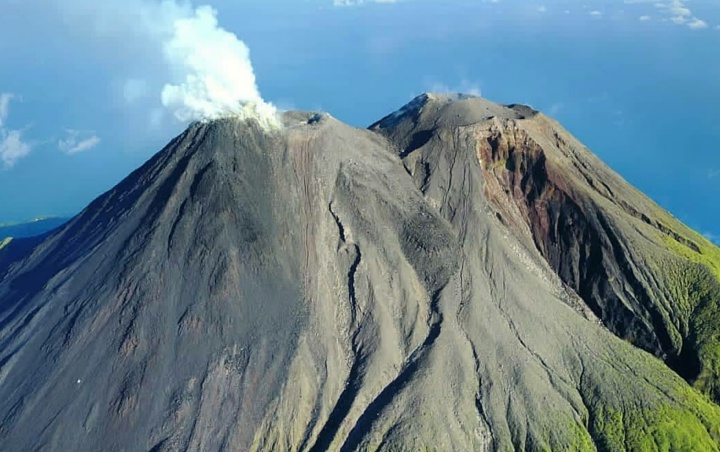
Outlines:
<svg viewBox="0 0 720 452"><path fill-rule="evenodd" d="M406 166L431 159L428 150L410 157L418 143L403 141L407 127L431 140L463 126L484 173L484 196L501 221L529 227L553 270L608 328L720 401L717 247L528 107L501 112L482 99L440 96L414 102L422 105L414 114L378 127L398 141Z"/></svg>

